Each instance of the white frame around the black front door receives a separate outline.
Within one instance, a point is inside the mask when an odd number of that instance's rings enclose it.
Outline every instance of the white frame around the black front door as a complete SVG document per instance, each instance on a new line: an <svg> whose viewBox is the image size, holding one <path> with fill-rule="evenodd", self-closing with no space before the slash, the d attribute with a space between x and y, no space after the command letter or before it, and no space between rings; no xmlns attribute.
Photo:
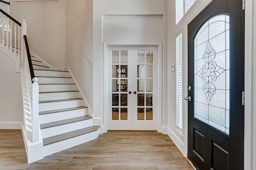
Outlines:
<svg viewBox="0 0 256 170"><path fill-rule="evenodd" d="M212 0L206 0L200 8L194 11L194 13L190 13L190 18L185 21L185 25L182 29L182 34L184 37L186 36L185 42L182 42L184 44L184 49L186 50L186 53L184 53L185 56L185 65L184 67L187 69L188 68L188 46L187 46L187 32L188 32L188 24L202 11L208 4L210 4ZM196 3L196 2L195 2ZM252 23L253 17L252 17L252 0L246 0L245 1L245 70L244 74L246 75L244 77L244 91L245 91L245 105L244 105L244 169L245 170L252 170L252 37L253 37L253 29L252 29ZM189 13L189 12L188 12ZM186 70L187 71L187 70ZM187 74L185 74L187 76ZM186 82L184 82L183 86L188 86L188 77L186 77ZM183 96L186 96L188 93L187 88L182 88L186 89L186 91L183 91ZM186 118L188 117L188 105L186 103ZM184 103L183 103L184 104ZM184 108L184 107L183 107ZM187 127L187 119L186 119L186 127ZM185 129L184 132L186 135L188 135L188 129ZM187 138L188 140L188 138ZM187 156L188 154L188 141L185 141L184 145L184 156Z"/></svg>

